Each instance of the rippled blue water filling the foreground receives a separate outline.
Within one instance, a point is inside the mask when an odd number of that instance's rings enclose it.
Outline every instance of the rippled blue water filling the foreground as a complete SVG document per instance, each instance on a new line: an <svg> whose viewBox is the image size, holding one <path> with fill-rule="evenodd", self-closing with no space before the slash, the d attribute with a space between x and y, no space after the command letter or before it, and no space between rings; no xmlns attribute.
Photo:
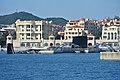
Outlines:
<svg viewBox="0 0 120 80"><path fill-rule="evenodd" d="M0 52L0 80L120 80L120 61L92 54L6 54Z"/></svg>

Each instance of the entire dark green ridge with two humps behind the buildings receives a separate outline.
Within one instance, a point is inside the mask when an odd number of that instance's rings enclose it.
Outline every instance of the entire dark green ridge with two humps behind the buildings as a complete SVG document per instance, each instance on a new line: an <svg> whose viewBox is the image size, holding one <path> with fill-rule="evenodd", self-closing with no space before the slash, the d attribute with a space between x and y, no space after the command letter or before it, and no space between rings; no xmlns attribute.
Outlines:
<svg viewBox="0 0 120 80"><path fill-rule="evenodd" d="M0 24L12 24L15 23L15 21L17 19L20 20L47 20L47 21L52 21L54 24L57 25L65 25L67 23L67 20L65 20L64 18L39 18L31 13L27 13L27 12L15 12L12 14L8 14L8 15L3 15L0 16Z"/></svg>

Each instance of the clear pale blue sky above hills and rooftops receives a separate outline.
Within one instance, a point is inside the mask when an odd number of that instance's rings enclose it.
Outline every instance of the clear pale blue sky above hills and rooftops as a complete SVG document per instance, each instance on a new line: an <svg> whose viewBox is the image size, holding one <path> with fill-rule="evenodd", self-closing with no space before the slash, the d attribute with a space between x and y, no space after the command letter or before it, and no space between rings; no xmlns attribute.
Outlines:
<svg viewBox="0 0 120 80"><path fill-rule="evenodd" d="M103 19L120 16L120 0L0 0L0 15L29 12L41 18Z"/></svg>

